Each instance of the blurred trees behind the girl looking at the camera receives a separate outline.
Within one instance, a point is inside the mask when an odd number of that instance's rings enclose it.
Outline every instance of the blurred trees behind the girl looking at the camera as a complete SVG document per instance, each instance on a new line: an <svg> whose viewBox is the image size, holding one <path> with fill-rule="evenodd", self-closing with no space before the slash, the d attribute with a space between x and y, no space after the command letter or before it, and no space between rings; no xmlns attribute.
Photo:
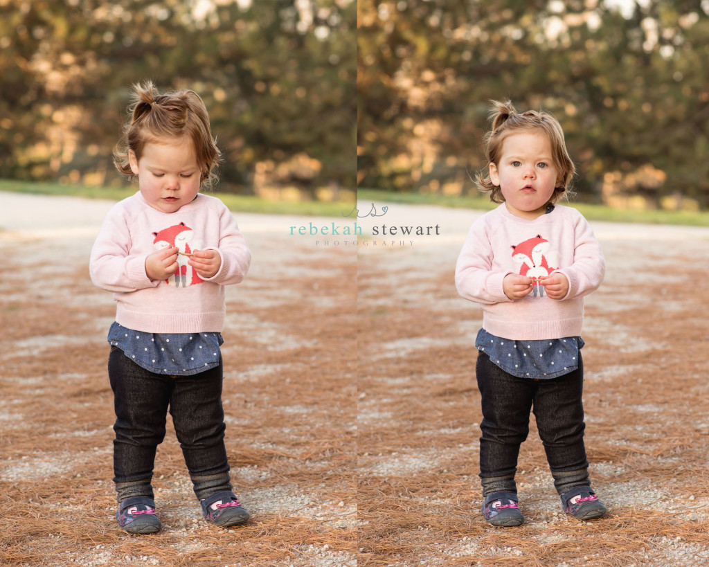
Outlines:
<svg viewBox="0 0 709 567"><path fill-rule="evenodd" d="M474 194L489 99L545 108L579 199L709 207L708 0L359 0L358 183Z"/></svg>

